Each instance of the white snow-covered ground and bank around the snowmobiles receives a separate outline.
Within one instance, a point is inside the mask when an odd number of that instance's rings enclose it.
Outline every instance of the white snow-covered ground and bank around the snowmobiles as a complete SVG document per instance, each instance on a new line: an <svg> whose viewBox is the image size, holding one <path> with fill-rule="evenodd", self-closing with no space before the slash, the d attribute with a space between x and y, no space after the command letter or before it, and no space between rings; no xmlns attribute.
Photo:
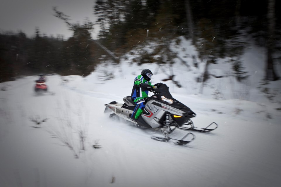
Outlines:
<svg viewBox="0 0 281 187"><path fill-rule="evenodd" d="M192 63L196 52L188 43L177 49ZM212 78L200 94L201 84L195 81L200 70L181 62L159 67L124 60L114 67L104 63L87 77L49 75L46 83L54 95L35 95L37 77L1 83L0 186L281 186L280 81L268 85L277 93L274 102L269 101L257 88L263 76L262 49L247 50L243 59L256 63L246 65L251 70L248 82ZM251 57L255 53L260 57ZM211 65L212 72L224 74L230 68L227 59L218 61ZM156 72L153 84L171 75L172 68L182 87L165 84L197 114L194 125L216 122L219 127L205 134L193 132L194 141L176 146L150 138L161 136L160 130L109 119L104 104L130 95L133 79L143 68ZM105 80L109 75L114 77ZM222 97L215 99L215 90ZM32 122L44 119L40 125ZM184 133L176 130L173 136ZM85 136L85 150L80 135ZM94 148L97 145L101 148Z"/></svg>

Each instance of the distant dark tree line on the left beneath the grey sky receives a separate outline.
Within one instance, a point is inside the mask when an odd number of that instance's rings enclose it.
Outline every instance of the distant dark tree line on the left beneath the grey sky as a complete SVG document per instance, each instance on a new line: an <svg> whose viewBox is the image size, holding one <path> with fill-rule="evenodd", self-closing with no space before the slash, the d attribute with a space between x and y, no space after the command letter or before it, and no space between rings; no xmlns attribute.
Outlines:
<svg viewBox="0 0 281 187"><path fill-rule="evenodd" d="M25 34L0 34L0 80L21 75L58 73L88 75L97 62L96 44L83 37L27 38Z"/></svg>

